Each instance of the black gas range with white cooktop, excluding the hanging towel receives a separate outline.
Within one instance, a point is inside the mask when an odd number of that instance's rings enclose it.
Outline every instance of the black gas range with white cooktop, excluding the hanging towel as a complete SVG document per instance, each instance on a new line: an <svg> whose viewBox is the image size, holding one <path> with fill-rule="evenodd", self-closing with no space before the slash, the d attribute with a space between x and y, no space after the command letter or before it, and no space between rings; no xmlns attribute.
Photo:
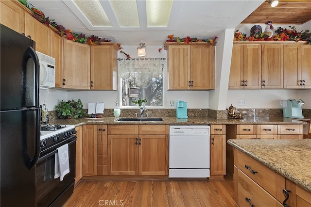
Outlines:
<svg viewBox="0 0 311 207"><path fill-rule="evenodd" d="M73 192L77 132L74 125L42 125L40 156L36 164L36 206L63 206ZM55 154L68 144L69 173L54 178Z"/></svg>

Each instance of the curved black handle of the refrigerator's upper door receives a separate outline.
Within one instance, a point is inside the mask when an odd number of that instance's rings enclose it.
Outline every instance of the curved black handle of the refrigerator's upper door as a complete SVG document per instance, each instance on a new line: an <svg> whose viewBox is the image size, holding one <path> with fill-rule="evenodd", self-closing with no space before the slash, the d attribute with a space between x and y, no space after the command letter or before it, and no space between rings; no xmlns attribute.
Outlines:
<svg viewBox="0 0 311 207"><path fill-rule="evenodd" d="M26 63L29 59L33 59L35 63L35 108L40 108L40 63L37 54L35 53L34 48L29 47L24 54L24 68L26 68Z"/></svg>

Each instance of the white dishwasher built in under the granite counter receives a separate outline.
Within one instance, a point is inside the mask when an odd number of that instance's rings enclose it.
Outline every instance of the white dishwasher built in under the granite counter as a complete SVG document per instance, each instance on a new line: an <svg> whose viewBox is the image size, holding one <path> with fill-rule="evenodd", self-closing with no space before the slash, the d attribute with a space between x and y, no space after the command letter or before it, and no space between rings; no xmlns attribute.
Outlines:
<svg viewBox="0 0 311 207"><path fill-rule="evenodd" d="M170 125L169 178L209 177L208 125Z"/></svg>

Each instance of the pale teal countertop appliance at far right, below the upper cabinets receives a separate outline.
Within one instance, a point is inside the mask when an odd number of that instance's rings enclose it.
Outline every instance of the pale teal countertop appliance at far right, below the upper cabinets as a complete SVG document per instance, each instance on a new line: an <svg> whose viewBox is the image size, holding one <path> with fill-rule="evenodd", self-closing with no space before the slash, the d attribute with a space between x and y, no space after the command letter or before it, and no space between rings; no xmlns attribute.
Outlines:
<svg viewBox="0 0 311 207"><path fill-rule="evenodd" d="M283 116L294 119L303 119L302 105L305 103L301 99L289 98L285 100L285 106L283 105Z"/></svg>

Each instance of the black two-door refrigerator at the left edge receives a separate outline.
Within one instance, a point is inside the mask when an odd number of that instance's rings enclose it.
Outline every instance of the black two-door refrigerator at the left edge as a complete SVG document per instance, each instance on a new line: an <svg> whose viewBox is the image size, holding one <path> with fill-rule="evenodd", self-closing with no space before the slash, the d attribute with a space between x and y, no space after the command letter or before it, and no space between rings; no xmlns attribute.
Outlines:
<svg viewBox="0 0 311 207"><path fill-rule="evenodd" d="M0 44L0 206L35 207L35 166L40 153L35 42L1 24Z"/></svg>

